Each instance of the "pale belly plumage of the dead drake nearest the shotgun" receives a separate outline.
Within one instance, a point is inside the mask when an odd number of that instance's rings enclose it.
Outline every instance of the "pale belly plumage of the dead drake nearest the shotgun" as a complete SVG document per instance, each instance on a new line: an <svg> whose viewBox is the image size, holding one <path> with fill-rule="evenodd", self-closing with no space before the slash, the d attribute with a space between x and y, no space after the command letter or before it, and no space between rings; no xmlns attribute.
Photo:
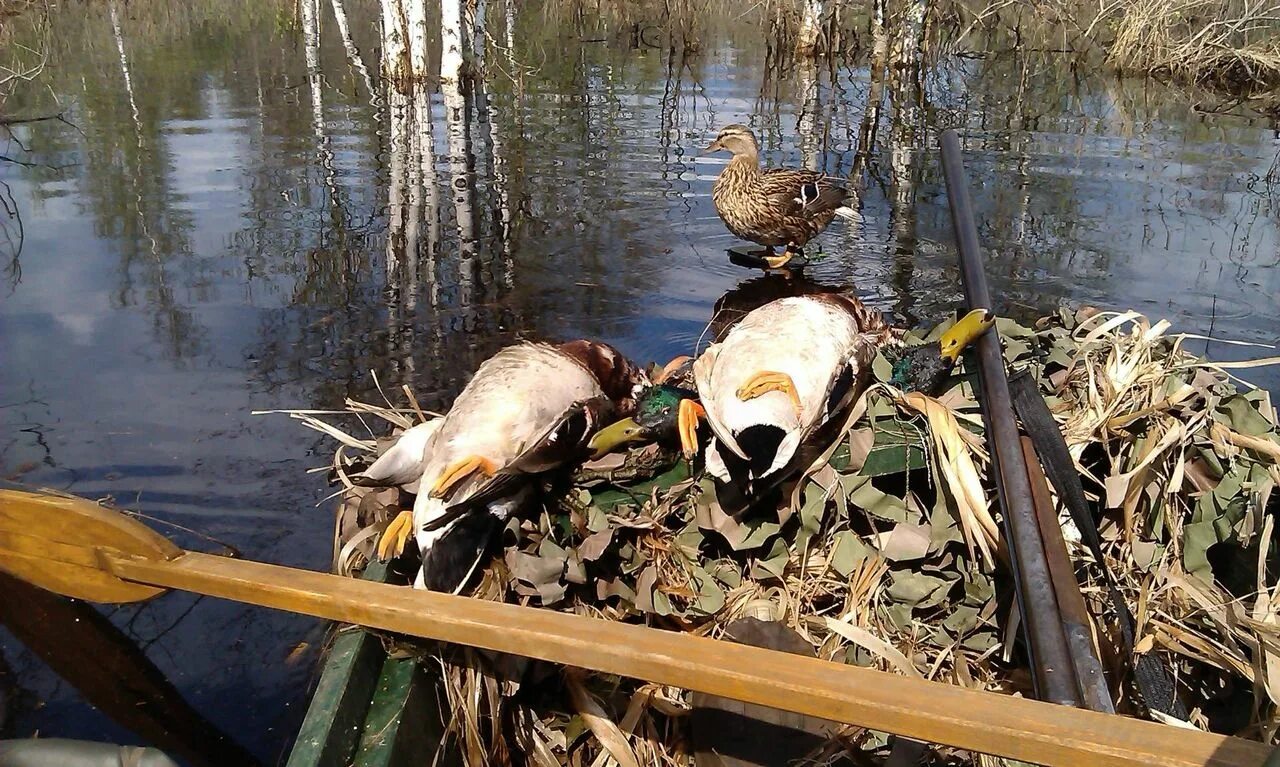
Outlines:
<svg viewBox="0 0 1280 767"><path fill-rule="evenodd" d="M717 442L746 458L737 437L754 425L777 426L785 433L782 442L759 476L782 469L826 420L833 384L865 348L858 319L822 298L780 298L751 311L694 364L698 393ZM762 373L788 376L799 405L785 391L741 398L740 389ZM716 451L713 444L707 467L728 480Z"/></svg>

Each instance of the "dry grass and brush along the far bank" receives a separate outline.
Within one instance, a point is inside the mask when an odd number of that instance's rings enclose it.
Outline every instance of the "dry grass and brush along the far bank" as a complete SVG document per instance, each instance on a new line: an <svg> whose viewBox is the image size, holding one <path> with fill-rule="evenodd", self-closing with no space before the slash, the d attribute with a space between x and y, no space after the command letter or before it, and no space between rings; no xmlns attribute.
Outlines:
<svg viewBox="0 0 1280 767"><path fill-rule="evenodd" d="M389 0L392 6L424 5ZM463 6L472 3L445 3ZM294 4L282 13L300 12ZM27 27L47 33L47 0L0 0L0 118L14 90L32 86L46 52L29 45ZM425 15L431 15L426 9ZM1212 91L1280 115L1280 0L769 0L740 9L723 0L550 0L540 10L563 18L567 31L590 18L658 45L696 51L718 23L751 19L762 44L796 58L887 59L897 69L929 65L947 56L1019 54L1059 56L1064 76L1082 67L1106 67L1121 77L1152 77ZM411 23L425 24L422 14ZM648 33L646 33L648 32ZM403 44L402 44L403 45ZM483 56L481 56L483 58ZM470 61L468 61L470 63ZM403 73L388 73L392 77Z"/></svg>

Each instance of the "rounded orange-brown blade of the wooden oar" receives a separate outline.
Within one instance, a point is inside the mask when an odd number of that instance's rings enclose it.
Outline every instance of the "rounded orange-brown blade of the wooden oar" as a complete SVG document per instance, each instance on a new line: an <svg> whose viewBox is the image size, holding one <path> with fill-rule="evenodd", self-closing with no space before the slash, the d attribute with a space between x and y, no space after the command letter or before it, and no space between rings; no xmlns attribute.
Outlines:
<svg viewBox="0 0 1280 767"><path fill-rule="evenodd" d="M182 553L118 511L54 493L0 489L0 570L45 590L91 602L138 602L164 589L120 580L99 551L147 560Z"/></svg>

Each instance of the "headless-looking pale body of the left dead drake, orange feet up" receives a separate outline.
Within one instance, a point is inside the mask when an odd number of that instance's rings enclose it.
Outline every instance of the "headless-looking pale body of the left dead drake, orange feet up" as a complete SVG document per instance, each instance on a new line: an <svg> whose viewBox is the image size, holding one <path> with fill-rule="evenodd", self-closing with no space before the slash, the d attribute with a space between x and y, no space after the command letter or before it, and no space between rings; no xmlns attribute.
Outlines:
<svg viewBox="0 0 1280 767"><path fill-rule="evenodd" d="M486 360L449 412L404 432L360 478L415 489L412 512L379 540L381 558L416 535L415 585L458 592L534 475L588 455L596 429L635 411L649 387L617 350L591 341L520 343Z"/></svg>

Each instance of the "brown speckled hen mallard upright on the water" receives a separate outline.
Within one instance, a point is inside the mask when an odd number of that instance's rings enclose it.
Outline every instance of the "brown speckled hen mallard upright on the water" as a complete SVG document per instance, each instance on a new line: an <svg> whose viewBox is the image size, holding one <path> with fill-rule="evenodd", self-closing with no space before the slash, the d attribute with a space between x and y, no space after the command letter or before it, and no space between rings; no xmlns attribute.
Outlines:
<svg viewBox="0 0 1280 767"><path fill-rule="evenodd" d="M845 205L847 191L838 179L817 170L760 168L755 133L741 124L724 125L704 151L727 150L733 157L712 190L716 213L736 237L765 247L765 262L785 266L804 245L837 215L858 219ZM783 247L781 256L774 247Z"/></svg>

